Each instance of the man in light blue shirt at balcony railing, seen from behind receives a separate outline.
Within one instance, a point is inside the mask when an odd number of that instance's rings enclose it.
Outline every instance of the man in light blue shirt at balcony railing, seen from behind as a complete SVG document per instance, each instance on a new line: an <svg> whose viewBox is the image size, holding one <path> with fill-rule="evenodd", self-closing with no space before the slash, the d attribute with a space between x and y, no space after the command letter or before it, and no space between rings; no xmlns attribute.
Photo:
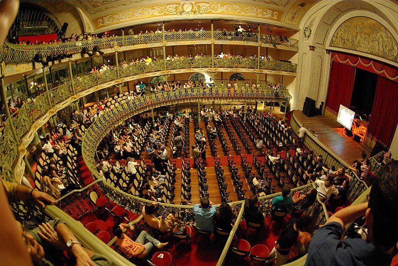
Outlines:
<svg viewBox="0 0 398 266"><path fill-rule="evenodd" d="M212 232L214 227L213 217L217 211L214 203L208 198L202 198L200 199L200 204L188 204L194 205L196 227Z"/></svg>

